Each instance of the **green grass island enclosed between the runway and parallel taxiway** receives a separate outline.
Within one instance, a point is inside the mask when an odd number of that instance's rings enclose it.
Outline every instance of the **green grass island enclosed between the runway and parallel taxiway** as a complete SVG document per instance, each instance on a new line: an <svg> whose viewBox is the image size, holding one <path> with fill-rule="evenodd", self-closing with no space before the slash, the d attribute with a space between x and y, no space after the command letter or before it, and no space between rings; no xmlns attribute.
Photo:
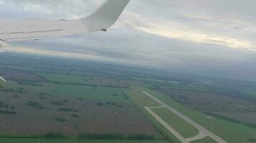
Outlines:
<svg viewBox="0 0 256 143"><path fill-rule="evenodd" d="M199 134L198 129L193 127L191 124L188 124L188 122L173 114L173 112L170 112L168 109L160 108L152 109L152 111L167 122L170 127L173 127L173 129L175 129L175 131L184 138L194 137Z"/></svg>

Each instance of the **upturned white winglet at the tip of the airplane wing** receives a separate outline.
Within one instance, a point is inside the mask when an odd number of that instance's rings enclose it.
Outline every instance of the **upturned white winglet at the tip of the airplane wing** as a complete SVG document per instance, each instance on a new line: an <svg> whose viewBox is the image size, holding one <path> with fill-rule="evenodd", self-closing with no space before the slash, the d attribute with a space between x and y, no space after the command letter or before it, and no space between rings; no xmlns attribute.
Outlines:
<svg viewBox="0 0 256 143"><path fill-rule="evenodd" d="M106 31L116 22L128 3L129 0L106 0L93 14L81 20L90 31Z"/></svg>

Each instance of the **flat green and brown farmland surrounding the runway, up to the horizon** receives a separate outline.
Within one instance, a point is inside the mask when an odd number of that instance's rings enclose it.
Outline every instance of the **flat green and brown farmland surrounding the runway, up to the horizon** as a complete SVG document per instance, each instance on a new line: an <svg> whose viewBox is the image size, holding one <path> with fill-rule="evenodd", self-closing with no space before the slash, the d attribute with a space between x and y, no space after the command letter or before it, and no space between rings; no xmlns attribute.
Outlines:
<svg viewBox="0 0 256 143"><path fill-rule="evenodd" d="M145 110L161 106L145 91L227 142L254 143L255 100L246 94L252 87L165 81L144 69L111 64L16 58L0 56L0 75L8 81L0 89L1 142L179 143ZM172 112L152 111L183 137L198 134ZM197 142L214 143L211 138Z"/></svg>

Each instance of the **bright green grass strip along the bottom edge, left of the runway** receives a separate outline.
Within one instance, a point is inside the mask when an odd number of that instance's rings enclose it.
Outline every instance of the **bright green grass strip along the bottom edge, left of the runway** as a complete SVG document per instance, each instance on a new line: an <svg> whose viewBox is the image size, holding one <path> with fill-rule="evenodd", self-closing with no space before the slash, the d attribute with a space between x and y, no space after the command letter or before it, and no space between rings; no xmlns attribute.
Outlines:
<svg viewBox="0 0 256 143"><path fill-rule="evenodd" d="M4 143L168 143L163 140L137 141L137 140L79 140L79 139L19 139L1 138Z"/></svg>

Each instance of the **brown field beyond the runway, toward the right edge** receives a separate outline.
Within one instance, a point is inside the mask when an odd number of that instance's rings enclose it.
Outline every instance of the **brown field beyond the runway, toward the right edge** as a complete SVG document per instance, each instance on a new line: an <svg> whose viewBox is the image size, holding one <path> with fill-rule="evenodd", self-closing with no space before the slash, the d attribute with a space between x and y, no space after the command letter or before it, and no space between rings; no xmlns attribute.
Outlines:
<svg viewBox="0 0 256 143"><path fill-rule="evenodd" d="M225 112L255 112L255 104L252 102L223 94L170 89L160 89L159 92L172 97L176 102L191 109Z"/></svg>

